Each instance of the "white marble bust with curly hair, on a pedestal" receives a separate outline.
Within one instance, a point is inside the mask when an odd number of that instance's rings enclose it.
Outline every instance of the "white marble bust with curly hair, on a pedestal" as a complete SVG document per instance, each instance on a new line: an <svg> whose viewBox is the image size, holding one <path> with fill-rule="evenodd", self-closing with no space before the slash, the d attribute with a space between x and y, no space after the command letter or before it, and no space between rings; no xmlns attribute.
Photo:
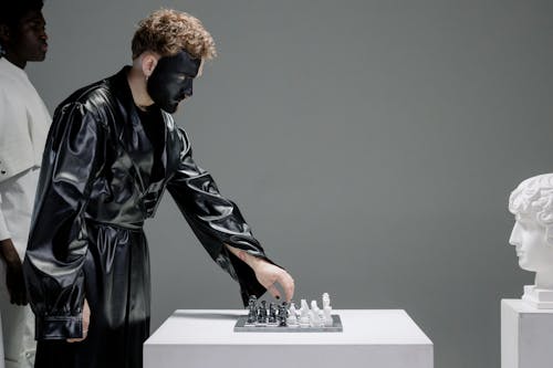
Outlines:
<svg viewBox="0 0 553 368"><path fill-rule="evenodd" d="M509 243L522 270L535 272L522 299L536 308L553 308L553 174L522 181L509 198L515 222Z"/></svg>

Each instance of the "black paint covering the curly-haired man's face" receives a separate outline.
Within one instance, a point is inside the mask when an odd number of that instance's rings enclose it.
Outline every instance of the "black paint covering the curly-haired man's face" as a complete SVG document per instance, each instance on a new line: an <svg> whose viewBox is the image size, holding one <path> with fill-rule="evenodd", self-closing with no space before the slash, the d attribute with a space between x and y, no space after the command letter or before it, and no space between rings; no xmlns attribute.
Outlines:
<svg viewBox="0 0 553 368"><path fill-rule="evenodd" d="M157 61L146 88L157 106L169 114L177 111L179 102L192 95L192 80L198 75L201 59L181 51Z"/></svg>

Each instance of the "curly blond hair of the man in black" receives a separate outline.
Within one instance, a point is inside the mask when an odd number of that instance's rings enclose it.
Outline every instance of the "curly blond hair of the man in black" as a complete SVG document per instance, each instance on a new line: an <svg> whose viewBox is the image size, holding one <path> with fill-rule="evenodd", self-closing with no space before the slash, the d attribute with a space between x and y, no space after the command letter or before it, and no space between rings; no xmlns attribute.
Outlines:
<svg viewBox="0 0 553 368"><path fill-rule="evenodd" d="M133 36L133 60L145 51L173 56L186 50L194 57L211 60L217 56L215 41L201 22L181 11L160 9L138 22Z"/></svg>

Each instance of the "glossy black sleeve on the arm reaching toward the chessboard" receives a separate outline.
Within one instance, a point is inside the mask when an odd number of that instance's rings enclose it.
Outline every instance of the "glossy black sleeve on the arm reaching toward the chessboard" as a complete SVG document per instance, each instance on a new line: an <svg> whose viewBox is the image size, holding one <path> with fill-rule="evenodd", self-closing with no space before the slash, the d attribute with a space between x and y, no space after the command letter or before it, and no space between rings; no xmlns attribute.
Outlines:
<svg viewBox="0 0 553 368"><path fill-rule="evenodd" d="M237 259L223 244L271 261L253 238L250 225L236 203L221 196L209 172L194 161L186 133L179 129L178 135L179 165L167 189L211 259L238 281L242 302L247 305L250 295L261 296L265 288L258 282L250 266Z"/></svg>

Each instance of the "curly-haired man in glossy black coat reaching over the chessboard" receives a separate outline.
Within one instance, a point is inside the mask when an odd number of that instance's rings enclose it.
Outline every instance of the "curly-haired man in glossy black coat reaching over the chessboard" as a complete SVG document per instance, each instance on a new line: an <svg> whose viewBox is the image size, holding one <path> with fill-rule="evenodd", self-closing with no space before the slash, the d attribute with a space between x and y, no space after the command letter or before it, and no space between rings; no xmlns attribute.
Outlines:
<svg viewBox="0 0 553 368"><path fill-rule="evenodd" d="M35 367L142 367L149 334L144 221L167 188L246 304L293 295L238 207L196 165L171 117L216 55L201 22L159 10L138 24L133 65L56 108L44 150L24 271L36 316Z"/></svg>

